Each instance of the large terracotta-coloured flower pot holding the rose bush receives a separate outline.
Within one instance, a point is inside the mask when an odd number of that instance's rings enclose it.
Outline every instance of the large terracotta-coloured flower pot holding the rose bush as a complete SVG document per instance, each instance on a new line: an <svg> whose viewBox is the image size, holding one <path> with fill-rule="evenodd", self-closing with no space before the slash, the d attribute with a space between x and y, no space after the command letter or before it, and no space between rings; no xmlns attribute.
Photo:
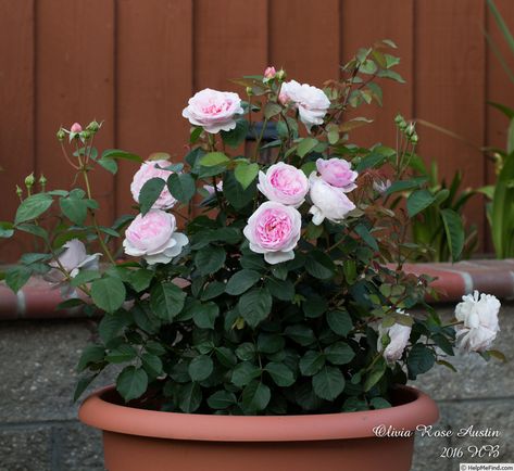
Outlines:
<svg viewBox="0 0 514 471"><path fill-rule="evenodd" d="M120 403L106 387L79 410L84 423L103 431L109 471L408 471L409 431L438 419L434 400L406 386L392 408L311 416L172 413ZM377 437L379 425L403 436Z"/></svg>

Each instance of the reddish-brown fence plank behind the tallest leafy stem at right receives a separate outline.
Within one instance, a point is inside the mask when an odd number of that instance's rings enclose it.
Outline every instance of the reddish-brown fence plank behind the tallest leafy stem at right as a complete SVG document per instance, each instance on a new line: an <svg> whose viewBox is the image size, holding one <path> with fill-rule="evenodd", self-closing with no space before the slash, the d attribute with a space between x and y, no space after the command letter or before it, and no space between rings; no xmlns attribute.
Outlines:
<svg viewBox="0 0 514 471"><path fill-rule="evenodd" d="M398 72L406 84L381 80L384 106L376 104L363 106L358 112L374 120L352 132L352 141L361 145L383 142L394 145L394 116L401 113L412 117L414 77L413 61L413 14L414 2L411 0L342 0L341 11L341 63L349 61L359 48L372 46L380 39L391 39L398 50L392 52L401 59ZM428 38L425 38L428 40Z"/></svg>

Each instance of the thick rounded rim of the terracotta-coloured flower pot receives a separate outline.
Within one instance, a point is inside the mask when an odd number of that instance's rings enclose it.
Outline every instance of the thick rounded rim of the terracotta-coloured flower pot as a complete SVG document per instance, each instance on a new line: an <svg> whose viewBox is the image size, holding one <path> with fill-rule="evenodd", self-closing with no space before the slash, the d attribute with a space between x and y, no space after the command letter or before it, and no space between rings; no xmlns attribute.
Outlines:
<svg viewBox="0 0 514 471"><path fill-rule="evenodd" d="M427 394L412 386L397 391L411 400L388 409L304 416L215 416L163 412L121 406L105 399L103 387L80 405L82 422L109 432L155 438L206 442L303 442L375 437L377 425L413 431L431 424L439 410Z"/></svg>

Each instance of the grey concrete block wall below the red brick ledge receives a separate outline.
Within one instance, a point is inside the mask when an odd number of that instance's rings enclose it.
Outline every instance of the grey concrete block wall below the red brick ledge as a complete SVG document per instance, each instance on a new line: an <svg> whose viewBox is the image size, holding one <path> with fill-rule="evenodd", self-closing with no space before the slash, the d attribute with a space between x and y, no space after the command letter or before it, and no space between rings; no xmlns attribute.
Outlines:
<svg viewBox="0 0 514 471"><path fill-rule="evenodd" d="M441 307L448 316L451 308ZM95 320L39 319L0 322L0 471L100 471L100 433L79 424L71 404L75 365L93 339ZM496 346L514 358L514 304L505 304ZM441 421L456 431L473 424L499 438L416 438L415 471L456 471L463 462L514 461L514 364L459 357L457 373L439 367L417 385L437 399ZM103 378L97 385L108 384ZM497 459L443 459L443 447L499 444ZM286 471L286 470L285 470ZM329 470L323 470L329 471Z"/></svg>

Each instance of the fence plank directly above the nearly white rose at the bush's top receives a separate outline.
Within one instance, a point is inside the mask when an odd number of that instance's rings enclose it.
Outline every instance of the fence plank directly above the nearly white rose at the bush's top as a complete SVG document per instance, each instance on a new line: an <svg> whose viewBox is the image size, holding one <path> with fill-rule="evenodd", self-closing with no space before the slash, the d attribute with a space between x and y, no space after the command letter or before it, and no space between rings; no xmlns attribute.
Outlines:
<svg viewBox="0 0 514 471"><path fill-rule="evenodd" d="M323 38L323 39L322 39ZM339 0L280 0L269 5L269 62L289 78L321 87L339 75Z"/></svg>

